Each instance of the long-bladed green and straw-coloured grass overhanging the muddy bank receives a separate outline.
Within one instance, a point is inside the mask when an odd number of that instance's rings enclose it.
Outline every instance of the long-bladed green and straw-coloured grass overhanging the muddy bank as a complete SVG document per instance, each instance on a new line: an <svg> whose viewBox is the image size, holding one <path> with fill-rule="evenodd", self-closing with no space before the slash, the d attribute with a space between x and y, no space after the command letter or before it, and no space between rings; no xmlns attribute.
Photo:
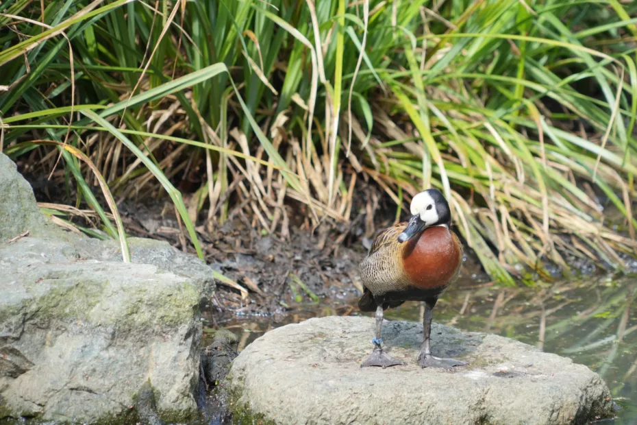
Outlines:
<svg viewBox="0 0 637 425"><path fill-rule="evenodd" d="M5 2L0 149L72 175L113 237L92 169L120 201L163 186L200 255L203 208L285 236L291 199L311 226L347 222L371 179L397 217L442 189L496 280L571 256L621 268L636 16L616 0Z"/></svg>

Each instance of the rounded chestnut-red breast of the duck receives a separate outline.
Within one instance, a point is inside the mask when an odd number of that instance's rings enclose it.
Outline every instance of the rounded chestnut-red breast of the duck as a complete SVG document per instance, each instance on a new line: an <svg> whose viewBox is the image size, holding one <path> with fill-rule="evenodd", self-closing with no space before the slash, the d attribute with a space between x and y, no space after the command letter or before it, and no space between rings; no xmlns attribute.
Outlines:
<svg viewBox="0 0 637 425"><path fill-rule="evenodd" d="M405 243L403 267L414 287L443 287L456 276L460 265L462 244L446 227L427 228Z"/></svg>

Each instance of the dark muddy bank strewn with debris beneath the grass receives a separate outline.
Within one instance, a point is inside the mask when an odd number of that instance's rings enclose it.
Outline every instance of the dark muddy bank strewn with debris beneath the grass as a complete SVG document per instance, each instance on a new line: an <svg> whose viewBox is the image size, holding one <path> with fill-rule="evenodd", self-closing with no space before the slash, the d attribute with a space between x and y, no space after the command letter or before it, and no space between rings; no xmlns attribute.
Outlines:
<svg viewBox="0 0 637 425"><path fill-rule="evenodd" d="M132 234L189 249L168 204L126 204L123 210ZM393 223L394 217L386 216L379 213L369 222L361 215L347 226L314 231L300 220L290 223L286 237L263 234L247 217L238 215L212 230L197 228L206 262L245 289L217 282L204 317L216 327L230 317L284 320L299 306L319 300L323 305L326 300L351 304L362 293L358 264L375 234ZM472 284L489 281L471 249L466 250L460 279Z"/></svg>

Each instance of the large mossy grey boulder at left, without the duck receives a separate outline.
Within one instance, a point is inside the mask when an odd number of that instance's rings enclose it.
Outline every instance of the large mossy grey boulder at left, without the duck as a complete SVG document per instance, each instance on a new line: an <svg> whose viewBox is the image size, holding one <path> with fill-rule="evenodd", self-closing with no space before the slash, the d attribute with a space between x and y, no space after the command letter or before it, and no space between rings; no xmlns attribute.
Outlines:
<svg viewBox="0 0 637 425"><path fill-rule="evenodd" d="M123 263L116 241L58 237L2 157L0 422L134 423L148 381L163 419L195 413L212 269L164 242L129 239Z"/></svg>

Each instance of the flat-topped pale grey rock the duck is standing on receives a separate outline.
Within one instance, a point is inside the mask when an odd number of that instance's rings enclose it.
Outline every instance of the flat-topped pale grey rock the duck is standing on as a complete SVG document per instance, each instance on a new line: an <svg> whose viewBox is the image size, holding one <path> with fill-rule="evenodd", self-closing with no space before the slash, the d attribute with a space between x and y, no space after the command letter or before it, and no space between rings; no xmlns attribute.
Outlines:
<svg viewBox="0 0 637 425"><path fill-rule="evenodd" d="M434 324L432 351L468 361L453 371L416 363L423 326L385 321L389 354L406 365L360 368L374 321L323 317L267 332L227 377L236 418L276 424L584 424L612 412L584 365L499 337Z"/></svg>

